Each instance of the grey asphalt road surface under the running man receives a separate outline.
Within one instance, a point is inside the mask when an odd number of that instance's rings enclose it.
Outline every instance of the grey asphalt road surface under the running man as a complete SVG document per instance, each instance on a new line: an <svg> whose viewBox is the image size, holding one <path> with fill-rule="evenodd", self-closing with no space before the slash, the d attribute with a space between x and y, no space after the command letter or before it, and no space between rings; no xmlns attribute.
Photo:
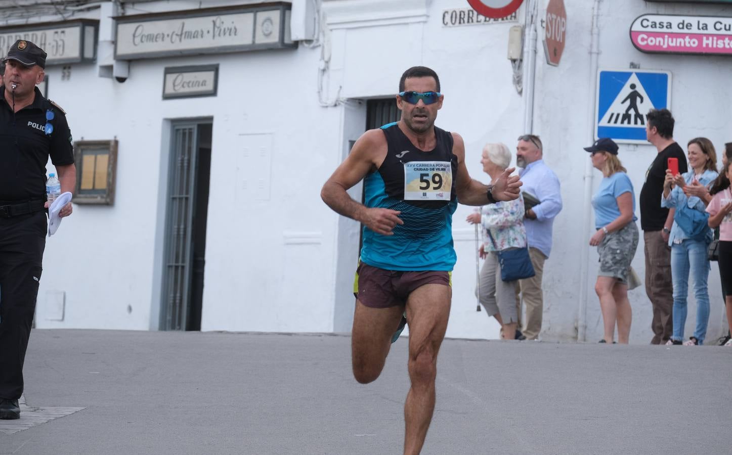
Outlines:
<svg viewBox="0 0 732 455"><path fill-rule="evenodd" d="M0 454L401 454L408 340L367 386L350 342L35 330L26 402L59 415ZM731 377L729 347L449 339L422 454L729 454Z"/></svg>

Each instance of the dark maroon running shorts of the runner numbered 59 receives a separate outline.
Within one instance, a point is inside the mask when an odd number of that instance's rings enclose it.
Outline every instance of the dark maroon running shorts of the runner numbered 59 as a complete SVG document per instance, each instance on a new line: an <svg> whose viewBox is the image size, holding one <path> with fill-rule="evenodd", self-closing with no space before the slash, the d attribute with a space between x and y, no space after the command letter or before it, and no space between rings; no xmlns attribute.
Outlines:
<svg viewBox="0 0 732 455"><path fill-rule="evenodd" d="M370 308L403 306L417 287L432 284L452 286L451 278L449 271L384 270L359 263L354 279L354 296Z"/></svg>

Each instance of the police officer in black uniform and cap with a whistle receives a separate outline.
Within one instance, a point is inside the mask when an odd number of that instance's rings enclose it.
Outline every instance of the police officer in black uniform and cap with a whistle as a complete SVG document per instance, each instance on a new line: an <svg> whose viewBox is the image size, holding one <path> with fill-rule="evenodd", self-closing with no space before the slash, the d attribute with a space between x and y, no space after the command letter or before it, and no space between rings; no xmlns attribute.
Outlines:
<svg viewBox="0 0 732 455"><path fill-rule="evenodd" d="M45 166L56 166L61 192L72 192L76 168L64 110L36 85L46 53L16 41L3 59L0 86L0 418L20 418L23 361L41 279L48 208ZM59 215L71 214L71 203Z"/></svg>

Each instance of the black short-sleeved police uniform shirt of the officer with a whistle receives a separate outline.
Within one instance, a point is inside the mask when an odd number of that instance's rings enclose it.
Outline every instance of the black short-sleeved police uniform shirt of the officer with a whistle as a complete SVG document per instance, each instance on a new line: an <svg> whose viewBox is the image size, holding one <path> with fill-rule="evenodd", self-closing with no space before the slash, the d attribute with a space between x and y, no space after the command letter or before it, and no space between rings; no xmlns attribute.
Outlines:
<svg viewBox="0 0 732 455"><path fill-rule="evenodd" d="M46 163L74 162L71 131L64 111L45 99L36 87L33 103L13 115L0 86L0 201L45 199ZM46 120L51 110L53 119ZM46 123L53 125L50 135Z"/></svg>

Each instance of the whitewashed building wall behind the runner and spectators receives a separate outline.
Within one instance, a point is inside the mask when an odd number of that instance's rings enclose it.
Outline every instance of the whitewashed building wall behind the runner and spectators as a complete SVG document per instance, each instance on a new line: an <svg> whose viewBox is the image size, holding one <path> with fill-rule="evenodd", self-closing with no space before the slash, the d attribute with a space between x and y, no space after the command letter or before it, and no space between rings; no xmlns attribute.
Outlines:
<svg viewBox="0 0 732 455"><path fill-rule="evenodd" d="M542 339L576 339L579 309L586 305L587 339L593 341L602 336L595 249L589 250L589 263L581 260L591 235L583 232L591 208L584 195L589 158L582 147L591 143L594 115L593 1L565 4L567 46L559 67L545 64L541 30L537 43L534 132L545 143L545 160L558 174L564 198L545 265ZM632 20L646 12L728 15L728 8L635 0L600 4L600 69L623 69L632 61L641 69L670 70L679 143L685 146L698 135L718 147L730 140L730 103L724 98L729 62L719 56L643 54L628 37ZM190 7L184 1L146 4L148 10ZM73 65L70 80L61 80L60 67L48 69L50 97L69 113L74 138L116 137L119 164L114 206L76 205L48 239L37 326L157 329L173 119L213 118L203 330L348 330L358 227L330 211L319 192L345 157L348 141L364 129L362 100L393 96L407 67L436 69L445 94L436 123L463 136L471 176L487 181L479 165L482 146L502 141L514 148L525 132L523 98L512 85L506 59L508 29L515 23L444 27L442 12L468 7L463 0L323 0L322 7L321 47L134 61L125 83L99 78L93 64ZM216 63L217 97L161 99L164 67ZM324 68L322 83L318 68ZM340 100L335 107L320 104L335 100ZM242 157L245 148L263 144L271 144L269 159ZM655 153L652 146L621 146L636 198ZM600 173L592 175L596 188ZM268 185L269 198L252 197L242 186L259 180ZM358 197L360 189L352 194ZM471 210L460 206L453 220L458 263L447 336L495 338L498 325L475 311L474 230L464 221ZM643 277L642 241L633 266ZM589 270L584 295L583 267ZM712 339L726 324L716 263L709 277ZM62 321L46 317L48 290L67 293ZM646 343L650 303L643 287L630 296L631 341ZM694 304L687 328L693 327L693 309Z"/></svg>

